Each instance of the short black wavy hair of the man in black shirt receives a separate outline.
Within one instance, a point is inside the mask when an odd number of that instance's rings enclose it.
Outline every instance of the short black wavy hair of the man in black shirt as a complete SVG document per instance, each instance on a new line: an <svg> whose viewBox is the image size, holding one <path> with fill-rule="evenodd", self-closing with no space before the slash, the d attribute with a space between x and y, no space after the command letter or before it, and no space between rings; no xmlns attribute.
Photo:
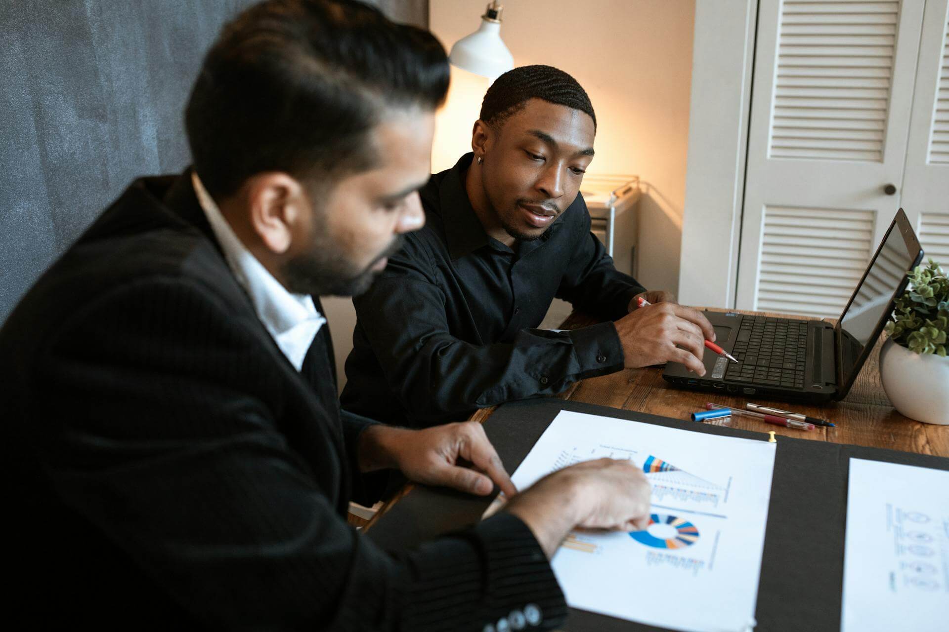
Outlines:
<svg viewBox="0 0 949 632"><path fill-rule="evenodd" d="M512 114L520 112L530 99L542 99L596 115L586 90L568 73L549 65L524 65L497 78L481 101L481 120L497 128Z"/></svg>

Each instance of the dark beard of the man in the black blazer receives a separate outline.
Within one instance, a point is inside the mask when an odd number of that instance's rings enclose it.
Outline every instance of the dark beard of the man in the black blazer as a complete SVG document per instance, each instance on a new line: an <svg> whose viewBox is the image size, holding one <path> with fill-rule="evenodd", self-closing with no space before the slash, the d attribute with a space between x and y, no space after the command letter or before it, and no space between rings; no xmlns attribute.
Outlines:
<svg viewBox="0 0 949 632"><path fill-rule="evenodd" d="M306 254L284 264L287 289L294 294L318 297L357 297L368 290L382 272L372 270L372 266L399 252L404 240L402 235L397 235L378 257L357 269L335 242L319 235Z"/></svg>

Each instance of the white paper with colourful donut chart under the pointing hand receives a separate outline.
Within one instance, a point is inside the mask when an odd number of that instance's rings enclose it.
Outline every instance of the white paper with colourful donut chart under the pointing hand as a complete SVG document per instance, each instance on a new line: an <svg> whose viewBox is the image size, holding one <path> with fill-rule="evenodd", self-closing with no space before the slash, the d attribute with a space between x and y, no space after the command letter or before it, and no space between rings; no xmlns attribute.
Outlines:
<svg viewBox="0 0 949 632"><path fill-rule="evenodd" d="M640 532L571 533L551 566L568 604L688 632L751 629L774 443L561 411L512 477L631 460L652 483Z"/></svg>

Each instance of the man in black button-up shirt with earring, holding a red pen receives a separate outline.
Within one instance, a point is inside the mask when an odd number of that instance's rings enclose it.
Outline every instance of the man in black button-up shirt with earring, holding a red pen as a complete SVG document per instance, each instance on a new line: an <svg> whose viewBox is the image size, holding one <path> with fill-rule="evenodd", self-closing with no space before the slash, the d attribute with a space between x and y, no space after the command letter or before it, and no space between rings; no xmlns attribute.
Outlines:
<svg viewBox="0 0 949 632"><path fill-rule="evenodd" d="M344 409L425 427L624 367L674 361L704 375L708 319L618 272L590 233L579 190L595 133L567 73L532 65L494 81L474 153L432 176L427 226L353 300ZM640 296L655 304L637 309ZM554 297L605 322L534 329Z"/></svg>

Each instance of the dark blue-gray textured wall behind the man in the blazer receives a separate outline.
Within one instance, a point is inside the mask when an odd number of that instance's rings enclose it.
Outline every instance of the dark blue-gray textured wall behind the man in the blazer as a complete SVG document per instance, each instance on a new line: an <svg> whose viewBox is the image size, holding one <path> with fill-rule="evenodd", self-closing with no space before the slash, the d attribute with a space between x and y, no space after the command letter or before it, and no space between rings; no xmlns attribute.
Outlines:
<svg viewBox="0 0 949 632"><path fill-rule="evenodd" d="M191 83L253 1L0 2L0 324L133 178L188 164ZM371 4L428 24L427 0Z"/></svg>

